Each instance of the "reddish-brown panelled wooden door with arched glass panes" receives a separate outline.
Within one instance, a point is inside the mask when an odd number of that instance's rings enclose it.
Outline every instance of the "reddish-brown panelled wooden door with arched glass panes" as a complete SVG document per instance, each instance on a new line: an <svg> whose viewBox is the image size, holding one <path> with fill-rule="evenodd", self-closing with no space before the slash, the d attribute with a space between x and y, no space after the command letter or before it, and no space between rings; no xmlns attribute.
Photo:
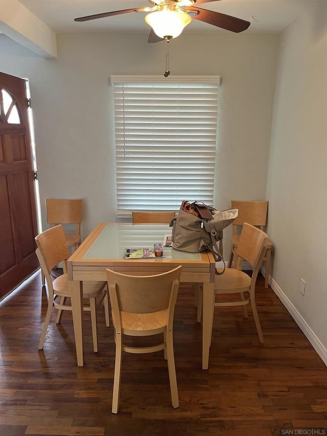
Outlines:
<svg viewBox="0 0 327 436"><path fill-rule="evenodd" d="M0 73L0 298L39 266L25 80Z"/></svg>

